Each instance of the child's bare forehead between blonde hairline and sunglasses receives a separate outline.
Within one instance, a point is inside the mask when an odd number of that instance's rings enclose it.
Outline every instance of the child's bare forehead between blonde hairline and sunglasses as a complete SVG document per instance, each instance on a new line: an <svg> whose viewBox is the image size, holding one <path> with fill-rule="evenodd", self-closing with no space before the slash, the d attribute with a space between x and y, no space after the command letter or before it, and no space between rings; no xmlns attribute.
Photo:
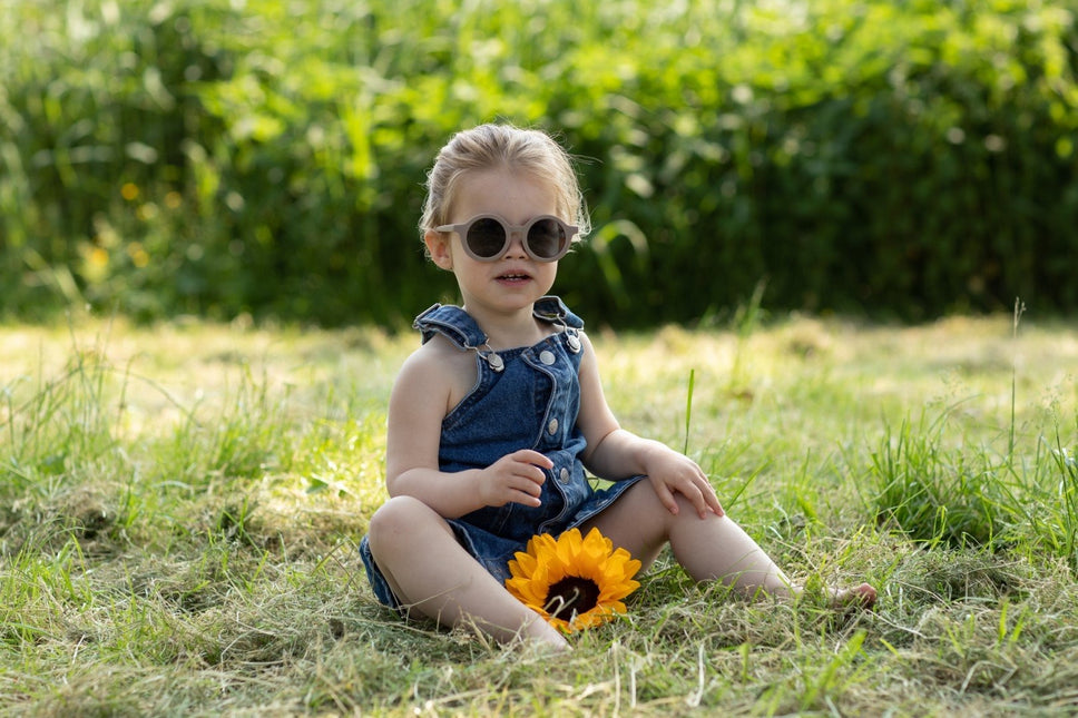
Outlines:
<svg viewBox="0 0 1078 718"><path fill-rule="evenodd" d="M533 174L509 169L469 173L460 179L452 214L457 222L494 214L522 224L536 215L557 215L558 194L551 181Z"/></svg>

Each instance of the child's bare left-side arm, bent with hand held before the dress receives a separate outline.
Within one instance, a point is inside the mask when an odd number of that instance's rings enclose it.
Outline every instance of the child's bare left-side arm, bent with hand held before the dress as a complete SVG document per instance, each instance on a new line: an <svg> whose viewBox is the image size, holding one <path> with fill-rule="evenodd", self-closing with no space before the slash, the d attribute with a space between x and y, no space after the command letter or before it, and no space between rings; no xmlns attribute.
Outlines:
<svg viewBox="0 0 1078 718"><path fill-rule="evenodd" d="M404 362L390 396L385 449L390 495L414 496L448 519L512 501L539 505L546 478L539 466L549 469L551 463L538 452L521 450L483 470L439 470L442 419L457 403L460 387L471 385L474 357L435 342Z"/></svg>

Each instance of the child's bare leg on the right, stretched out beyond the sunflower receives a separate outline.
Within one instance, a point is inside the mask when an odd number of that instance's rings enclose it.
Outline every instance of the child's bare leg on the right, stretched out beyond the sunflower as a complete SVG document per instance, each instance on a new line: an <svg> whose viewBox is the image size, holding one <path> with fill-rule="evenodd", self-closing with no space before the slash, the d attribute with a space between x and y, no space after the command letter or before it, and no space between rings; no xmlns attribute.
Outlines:
<svg viewBox="0 0 1078 718"><path fill-rule="evenodd" d="M647 568L669 542L674 558L697 581L721 580L745 593L763 590L772 596L796 596L786 574L729 517L708 514L700 519L680 495L673 514L659 502L649 481L625 492L614 505L589 521L582 530L597 527L615 545L625 548ZM875 602L875 589L862 583L832 592L835 604Z"/></svg>

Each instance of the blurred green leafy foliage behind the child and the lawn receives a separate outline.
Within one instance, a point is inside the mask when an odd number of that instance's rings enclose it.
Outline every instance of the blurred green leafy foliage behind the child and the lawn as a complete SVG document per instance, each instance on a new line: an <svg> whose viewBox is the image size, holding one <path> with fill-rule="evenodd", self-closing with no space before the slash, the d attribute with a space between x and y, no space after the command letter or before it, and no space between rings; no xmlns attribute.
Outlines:
<svg viewBox="0 0 1078 718"><path fill-rule="evenodd" d="M433 154L581 158L556 291L617 323L1078 308L1078 2L27 0L0 8L0 311L396 323L452 297ZM762 285L761 283L765 283Z"/></svg>

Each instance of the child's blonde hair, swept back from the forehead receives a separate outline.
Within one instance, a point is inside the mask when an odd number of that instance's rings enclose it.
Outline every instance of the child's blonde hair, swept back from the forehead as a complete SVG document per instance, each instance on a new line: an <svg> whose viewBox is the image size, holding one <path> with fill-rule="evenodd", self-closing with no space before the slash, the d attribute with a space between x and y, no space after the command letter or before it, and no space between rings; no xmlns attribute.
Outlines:
<svg viewBox="0 0 1078 718"><path fill-rule="evenodd" d="M434 166L427 176L420 235L449 224L452 204L463 177L469 173L497 168L528 173L549 181L555 189L558 214L580 227L574 242L588 234L588 209L569 154L540 130L520 129L511 125L480 125L458 132L438 153Z"/></svg>

